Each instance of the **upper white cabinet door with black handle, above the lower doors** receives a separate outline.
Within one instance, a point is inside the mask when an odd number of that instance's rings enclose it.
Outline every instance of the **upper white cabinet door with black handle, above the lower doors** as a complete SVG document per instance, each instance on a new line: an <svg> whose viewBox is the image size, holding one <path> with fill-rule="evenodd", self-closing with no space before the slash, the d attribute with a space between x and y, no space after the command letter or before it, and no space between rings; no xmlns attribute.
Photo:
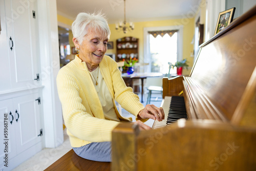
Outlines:
<svg viewBox="0 0 256 171"><path fill-rule="evenodd" d="M40 85L37 1L1 0L0 92ZM39 79L37 79L39 75Z"/></svg>

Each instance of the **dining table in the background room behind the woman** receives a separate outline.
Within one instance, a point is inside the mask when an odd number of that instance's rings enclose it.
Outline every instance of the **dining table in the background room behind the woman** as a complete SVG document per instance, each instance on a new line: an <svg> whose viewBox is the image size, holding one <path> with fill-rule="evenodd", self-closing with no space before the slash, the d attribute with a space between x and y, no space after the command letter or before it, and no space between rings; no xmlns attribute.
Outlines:
<svg viewBox="0 0 256 171"><path fill-rule="evenodd" d="M161 77L163 76L160 72L134 72L133 74L123 73L122 78L126 83L126 86L133 88L133 80L134 79L141 79L141 102L143 102L143 82L144 79L147 77Z"/></svg>

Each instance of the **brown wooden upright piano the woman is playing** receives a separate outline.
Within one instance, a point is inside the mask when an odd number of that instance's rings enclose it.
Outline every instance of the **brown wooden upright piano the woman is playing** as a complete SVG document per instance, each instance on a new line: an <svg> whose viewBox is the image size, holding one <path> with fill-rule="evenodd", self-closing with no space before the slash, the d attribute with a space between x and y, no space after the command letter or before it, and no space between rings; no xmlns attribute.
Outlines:
<svg viewBox="0 0 256 171"><path fill-rule="evenodd" d="M113 130L111 170L256 169L256 7L200 47L189 76L163 78L166 116L174 96L186 119Z"/></svg>

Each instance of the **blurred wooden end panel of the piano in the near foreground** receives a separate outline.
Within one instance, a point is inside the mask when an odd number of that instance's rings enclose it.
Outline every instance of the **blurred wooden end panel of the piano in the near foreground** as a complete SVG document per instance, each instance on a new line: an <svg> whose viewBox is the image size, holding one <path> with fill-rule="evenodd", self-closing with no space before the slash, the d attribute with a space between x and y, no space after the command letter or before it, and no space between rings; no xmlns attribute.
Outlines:
<svg viewBox="0 0 256 171"><path fill-rule="evenodd" d="M128 123L126 131L138 132L138 128ZM114 137L125 135L124 130L113 132ZM234 127L216 120L179 120L177 124L133 136L126 137L127 141L120 137L113 142L113 157L118 160L113 158L111 170L240 171L256 168L256 132L249 127ZM115 149L122 155L115 155ZM124 149L126 153L122 153Z"/></svg>

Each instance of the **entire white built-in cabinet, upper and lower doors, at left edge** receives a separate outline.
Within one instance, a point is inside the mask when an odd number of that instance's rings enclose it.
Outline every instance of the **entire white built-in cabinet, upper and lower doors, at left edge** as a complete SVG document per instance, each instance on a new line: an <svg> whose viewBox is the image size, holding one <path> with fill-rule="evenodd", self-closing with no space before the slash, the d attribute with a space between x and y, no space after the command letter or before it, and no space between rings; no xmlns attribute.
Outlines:
<svg viewBox="0 0 256 171"><path fill-rule="evenodd" d="M0 0L0 137L8 114L8 167L11 170L44 147L40 44L36 0ZM37 99L37 100L36 100ZM41 101L40 101L41 102ZM41 113L41 115L40 115ZM1 160L3 161L3 160Z"/></svg>

